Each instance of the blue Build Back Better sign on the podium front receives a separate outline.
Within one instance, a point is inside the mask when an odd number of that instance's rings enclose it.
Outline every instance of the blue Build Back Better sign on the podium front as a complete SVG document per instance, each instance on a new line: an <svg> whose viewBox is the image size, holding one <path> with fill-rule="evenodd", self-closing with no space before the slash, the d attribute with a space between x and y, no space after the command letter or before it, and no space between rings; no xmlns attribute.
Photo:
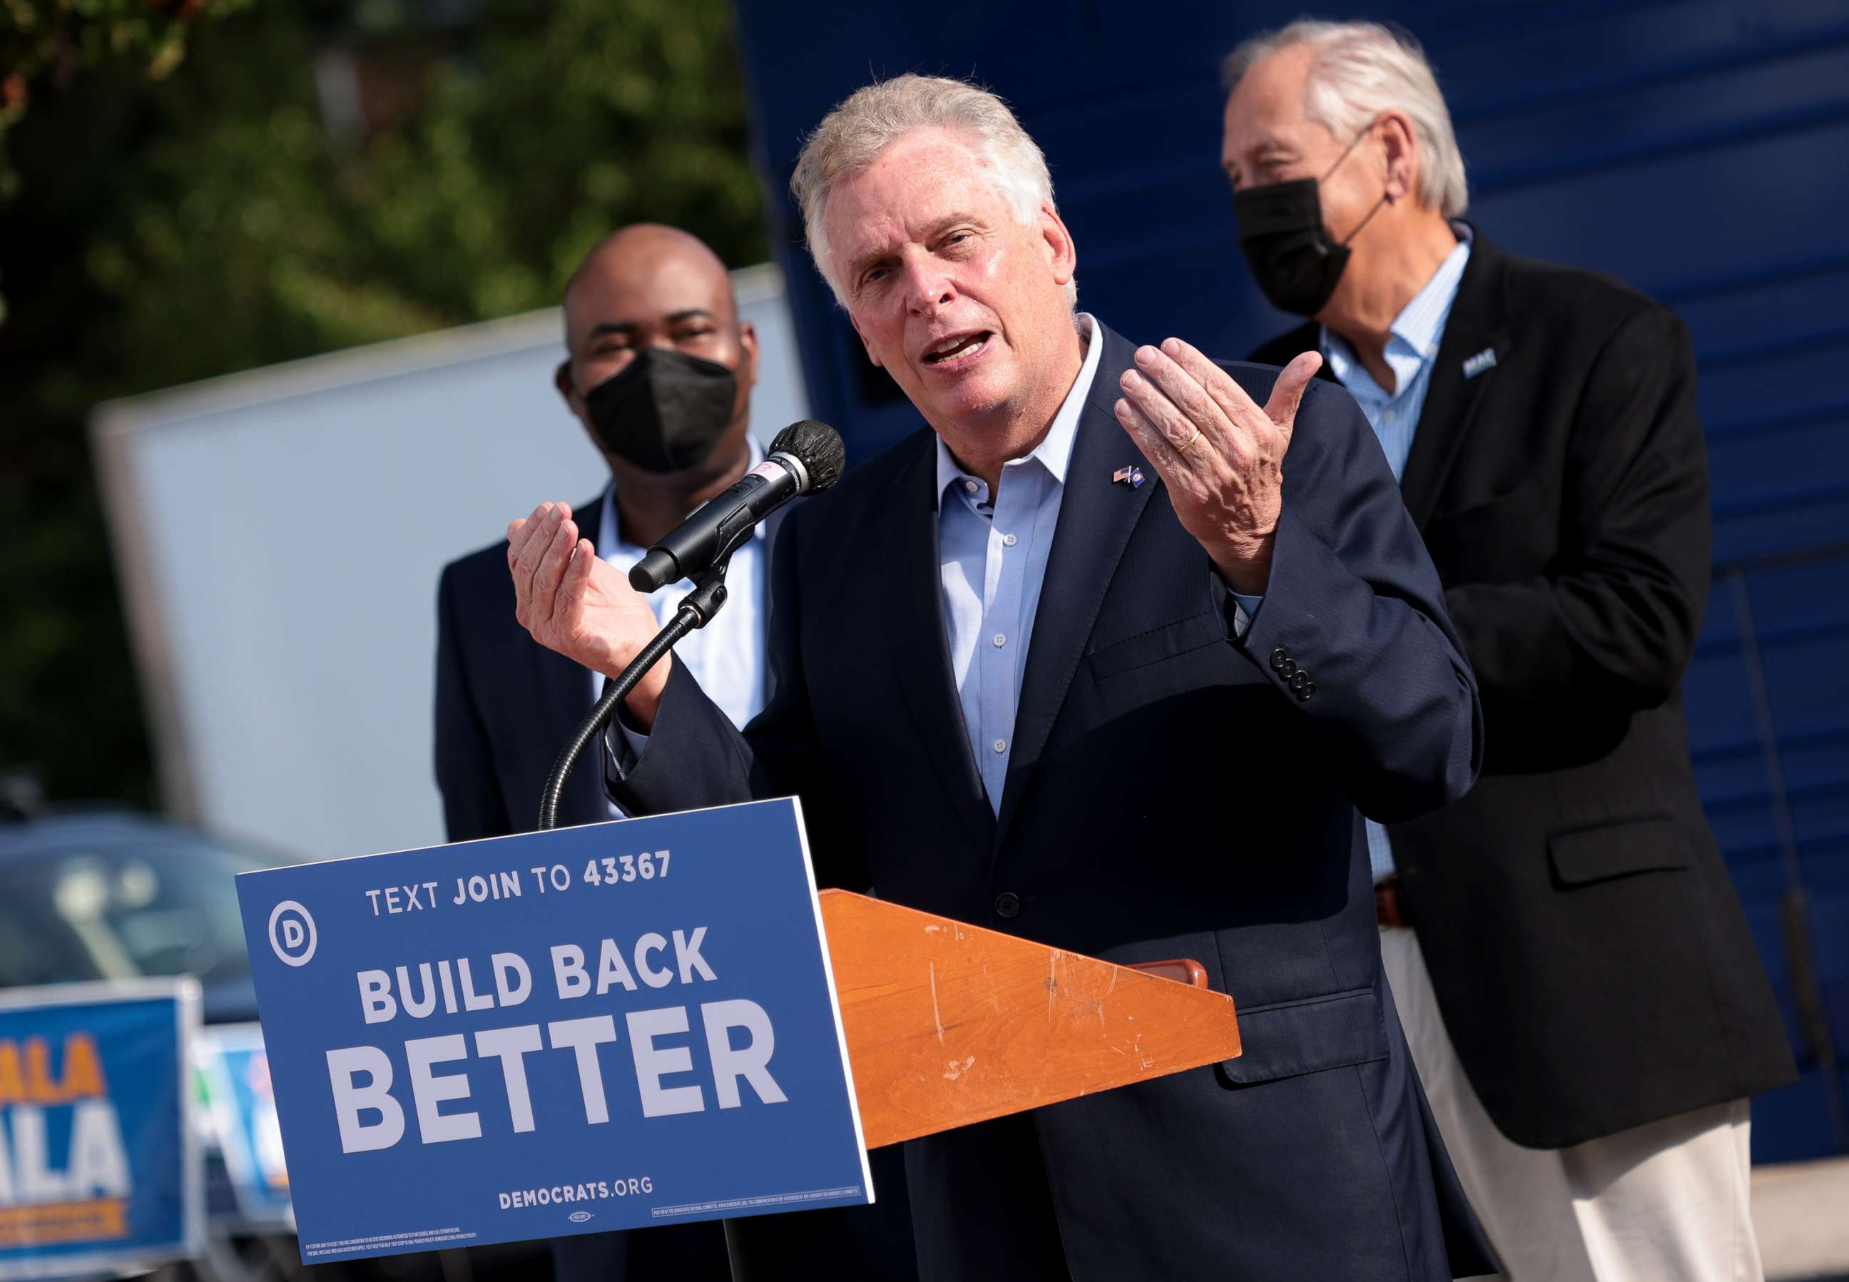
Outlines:
<svg viewBox="0 0 1849 1282"><path fill-rule="evenodd" d="M237 881L305 1264L873 1201L795 799Z"/></svg>

